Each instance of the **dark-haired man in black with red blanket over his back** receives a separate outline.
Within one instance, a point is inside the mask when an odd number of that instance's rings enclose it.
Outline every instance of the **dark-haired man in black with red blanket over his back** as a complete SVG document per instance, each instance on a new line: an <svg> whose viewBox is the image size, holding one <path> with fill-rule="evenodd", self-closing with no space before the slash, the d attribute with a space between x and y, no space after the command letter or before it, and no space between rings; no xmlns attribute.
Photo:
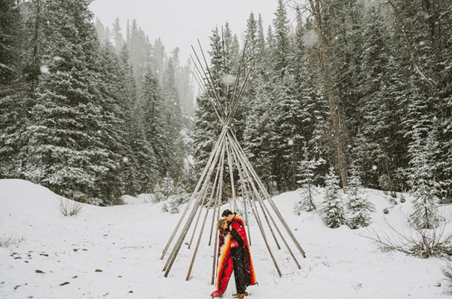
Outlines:
<svg viewBox="0 0 452 299"><path fill-rule="evenodd" d="M230 210L224 210L221 216L229 223L231 232L231 255L234 264L234 276L236 278L237 293L235 298L242 299L248 296L246 288L248 285L256 284L253 261L251 260L250 246L248 245L245 225L240 216Z"/></svg>

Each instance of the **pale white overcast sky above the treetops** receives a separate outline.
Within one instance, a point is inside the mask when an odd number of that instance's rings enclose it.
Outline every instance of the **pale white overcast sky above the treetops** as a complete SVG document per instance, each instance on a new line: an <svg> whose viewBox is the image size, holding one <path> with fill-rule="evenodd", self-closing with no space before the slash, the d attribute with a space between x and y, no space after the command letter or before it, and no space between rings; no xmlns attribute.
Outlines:
<svg viewBox="0 0 452 299"><path fill-rule="evenodd" d="M162 39L166 52L179 47L181 64L185 64L190 46L199 39L203 50L208 47L211 30L229 22L242 43L246 21L253 12L262 15L264 32L272 24L277 0L94 0L90 6L104 26L112 28L116 17L126 35L127 19L136 19L153 43Z"/></svg>

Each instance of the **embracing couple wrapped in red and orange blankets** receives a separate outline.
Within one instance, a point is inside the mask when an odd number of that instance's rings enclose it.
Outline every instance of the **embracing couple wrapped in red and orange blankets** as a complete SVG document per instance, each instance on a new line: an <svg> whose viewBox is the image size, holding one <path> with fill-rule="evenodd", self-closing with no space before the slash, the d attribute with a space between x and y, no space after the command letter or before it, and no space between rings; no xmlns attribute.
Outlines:
<svg viewBox="0 0 452 299"><path fill-rule="evenodd" d="M245 224L236 213L224 210L223 219L218 221L218 272L216 290L211 293L212 298L233 295L242 299L248 296L248 285L256 284L250 246L245 232ZM234 276L233 280L230 278ZM235 283L234 283L235 282ZM237 289L228 291L236 285ZM228 290L227 290L228 288Z"/></svg>

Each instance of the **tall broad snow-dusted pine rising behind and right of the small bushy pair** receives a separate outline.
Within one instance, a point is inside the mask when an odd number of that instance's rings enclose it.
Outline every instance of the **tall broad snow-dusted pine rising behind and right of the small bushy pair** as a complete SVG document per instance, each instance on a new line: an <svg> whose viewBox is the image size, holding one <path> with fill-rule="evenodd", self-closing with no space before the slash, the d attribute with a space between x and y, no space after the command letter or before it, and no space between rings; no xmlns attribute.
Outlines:
<svg viewBox="0 0 452 299"><path fill-rule="evenodd" d="M395 46L383 17L375 8L364 15L361 68L357 89L361 98L355 116L356 166L366 186L385 191L401 187L397 172L407 164L401 117L406 105L406 76L395 57ZM372 166L378 165L377 170ZM397 178L397 179L396 179Z"/></svg>

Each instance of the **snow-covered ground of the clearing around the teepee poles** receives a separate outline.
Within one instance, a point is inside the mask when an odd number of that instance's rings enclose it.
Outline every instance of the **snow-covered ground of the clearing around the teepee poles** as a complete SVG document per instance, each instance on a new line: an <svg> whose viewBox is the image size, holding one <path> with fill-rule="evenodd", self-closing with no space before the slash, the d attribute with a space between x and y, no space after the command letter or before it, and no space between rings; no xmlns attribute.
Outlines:
<svg viewBox="0 0 452 299"><path fill-rule="evenodd" d="M259 282L248 288L251 298L448 298L441 273L445 261L383 253L364 237L373 230L387 231L386 220L405 227L411 198L391 206L380 191L368 189L366 194L377 212L371 228L360 230L329 229L313 212L294 214L298 192L276 196L275 203L307 257L296 252L302 266L298 270L287 250L276 250L268 234L283 273L279 278L251 221ZM64 217L60 197L48 189L22 180L0 180L0 241L22 240L0 248L0 298L208 298L214 290L208 233L191 279L185 281L185 275L194 246L182 247L165 278L160 256L180 215L162 213L162 204L150 203L146 196L125 200L129 204L115 207L83 205L78 216ZM320 203L321 190L316 200ZM385 207L388 215L383 214ZM452 207L442 206L441 212L450 219ZM65 282L69 283L60 285Z"/></svg>

